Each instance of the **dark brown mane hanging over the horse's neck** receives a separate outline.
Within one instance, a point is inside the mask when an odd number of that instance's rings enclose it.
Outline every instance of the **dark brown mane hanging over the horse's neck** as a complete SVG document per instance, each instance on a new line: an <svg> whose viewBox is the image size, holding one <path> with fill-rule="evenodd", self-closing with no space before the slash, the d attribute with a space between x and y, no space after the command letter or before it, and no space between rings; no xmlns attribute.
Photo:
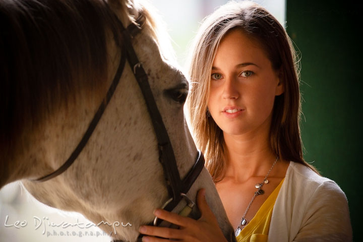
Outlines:
<svg viewBox="0 0 363 242"><path fill-rule="evenodd" d="M105 94L107 39L116 22L102 0L1 0L0 26L4 181L8 162L45 118L81 92Z"/></svg>

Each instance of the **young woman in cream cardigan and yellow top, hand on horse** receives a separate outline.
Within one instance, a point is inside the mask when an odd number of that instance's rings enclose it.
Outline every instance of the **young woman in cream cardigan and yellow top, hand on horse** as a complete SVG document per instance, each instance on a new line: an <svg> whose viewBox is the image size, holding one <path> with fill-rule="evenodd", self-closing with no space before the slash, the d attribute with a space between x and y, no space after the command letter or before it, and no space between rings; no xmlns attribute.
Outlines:
<svg viewBox="0 0 363 242"><path fill-rule="evenodd" d="M191 125L237 241L351 241L345 194L302 157L298 69L284 28L261 6L233 2L205 19L196 40ZM157 209L180 227L142 226L159 236L143 241L226 241L204 192L199 220Z"/></svg>

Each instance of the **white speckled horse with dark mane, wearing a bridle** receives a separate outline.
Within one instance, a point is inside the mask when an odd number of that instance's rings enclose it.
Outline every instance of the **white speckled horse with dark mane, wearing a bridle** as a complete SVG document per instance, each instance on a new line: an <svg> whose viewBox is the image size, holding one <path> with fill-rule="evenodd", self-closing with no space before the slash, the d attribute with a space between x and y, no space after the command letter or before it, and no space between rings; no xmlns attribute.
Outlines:
<svg viewBox="0 0 363 242"><path fill-rule="evenodd" d="M163 54L157 24L143 5L126 0L0 1L0 188L22 180L51 207L82 213L95 224L128 221L132 226L118 226L116 233L101 225L113 239L124 241L136 241L139 226L153 221L153 210L169 199L155 131L128 62L73 164L52 179L36 179L65 163L104 100L126 54L115 19L129 26L141 14L145 25L132 45L183 178L197 157L183 113L188 82ZM206 188L225 237L235 241L204 167L188 196L195 200L200 188Z"/></svg>

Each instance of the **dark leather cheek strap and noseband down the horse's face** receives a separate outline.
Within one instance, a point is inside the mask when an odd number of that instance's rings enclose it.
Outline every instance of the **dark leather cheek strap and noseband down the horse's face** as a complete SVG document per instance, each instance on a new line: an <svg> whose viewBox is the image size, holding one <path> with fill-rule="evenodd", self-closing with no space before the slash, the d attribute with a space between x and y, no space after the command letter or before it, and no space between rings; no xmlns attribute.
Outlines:
<svg viewBox="0 0 363 242"><path fill-rule="evenodd" d="M154 96L150 88L150 84L148 82L148 76L142 66L142 63L139 62L139 59L137 57L137 54L135 53L134 47L131 42L131 39L133 38L133 35L131 35L131 33L136 35L139 32L145 22L145 17L140 14L136 22L140 26L130 24L128 28L125 29L120 21L119 25L122 29L122 35L124 40L124 46L126 47L127 51L128 62L130 64L130 67L134 71L135 78L141 88L152 120L159 146L159 160L164 170L169 197L172 198L172 200L164 207L164 209L167 211L172 211L180 202L180 200L183 199L182 194L188 193L194 181L197 179L200 172L202 171L204 167L204 156L202 152L198 150L198 157L196 159L196 163L182 181L180 179L180 174L176 166L174 151L172 149L168 133L165 129L162 117L157 108ZM157 222L156 225L158 225L159 223L160 220Z"/></svg>

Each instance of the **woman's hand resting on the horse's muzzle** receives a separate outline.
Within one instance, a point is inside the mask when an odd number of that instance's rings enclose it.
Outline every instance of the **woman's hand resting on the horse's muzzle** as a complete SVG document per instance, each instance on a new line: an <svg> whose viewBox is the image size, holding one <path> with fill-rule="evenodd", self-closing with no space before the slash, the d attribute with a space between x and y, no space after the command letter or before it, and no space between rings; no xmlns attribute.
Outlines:
<svg viewBox="0 0 363 242"><path fill-rule="evenodd" d="M205 199L205 189L201 189L198 191L197 205L202 214L198 220L183 217L176 213L171 213L163 209L156 209L154 211L155 216L178 225L179 229L143 225L139 228L140 233L159 236L162 238L143 236L142 241L227 241L222 233L222 230L218 226L216 217L214 216L207 204L207 201Z"/></svg>

